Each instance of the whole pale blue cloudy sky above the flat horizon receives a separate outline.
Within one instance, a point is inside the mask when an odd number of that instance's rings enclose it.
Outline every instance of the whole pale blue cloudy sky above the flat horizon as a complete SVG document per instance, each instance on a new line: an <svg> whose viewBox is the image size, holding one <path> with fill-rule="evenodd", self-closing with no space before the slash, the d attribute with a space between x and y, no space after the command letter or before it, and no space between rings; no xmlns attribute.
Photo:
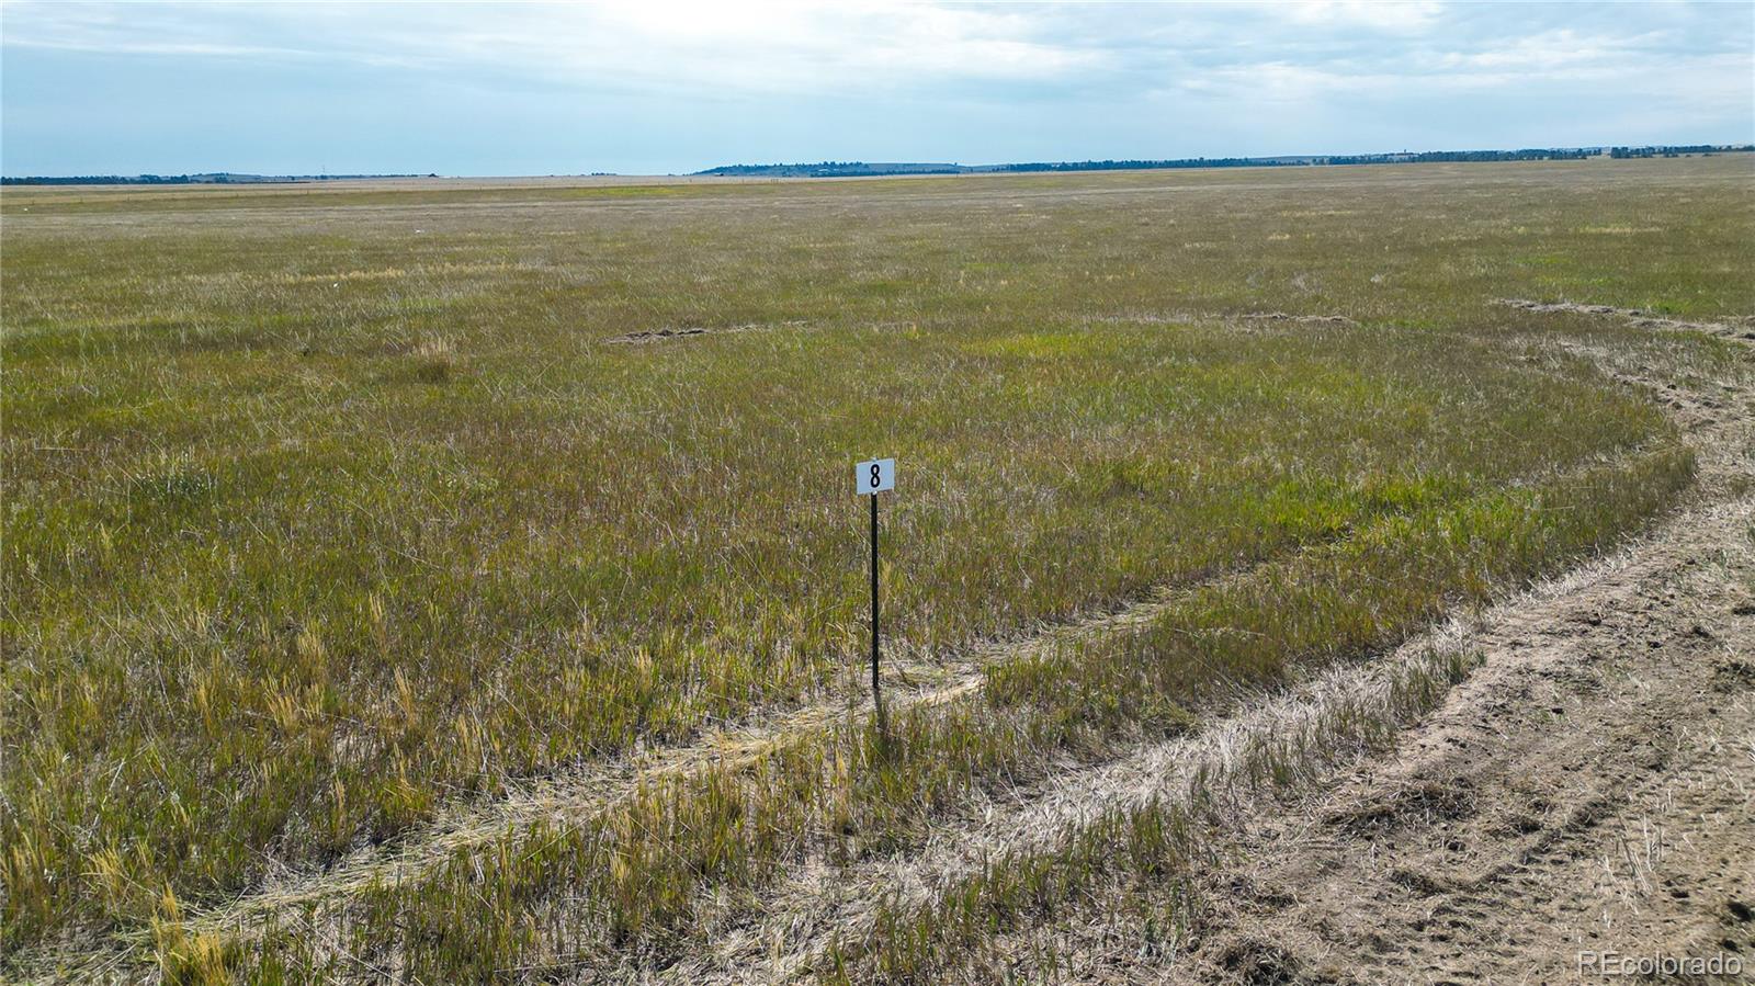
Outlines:
<svg viewBox="0 0 1755 986"><path fill-rule="evenodd" d="M0 172L1755 142L1755 2L0 4Z"/></svg>

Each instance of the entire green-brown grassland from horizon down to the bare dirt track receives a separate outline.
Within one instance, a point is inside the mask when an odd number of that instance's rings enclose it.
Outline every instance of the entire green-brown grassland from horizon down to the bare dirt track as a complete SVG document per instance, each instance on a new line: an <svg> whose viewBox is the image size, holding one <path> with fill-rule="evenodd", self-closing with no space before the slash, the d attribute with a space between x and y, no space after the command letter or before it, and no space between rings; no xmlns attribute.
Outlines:
<svg viewBox="0 0 1755 986"><path fill-rule="evenodd" d="M700 972L804 874L855 886L1687 498L1674 423L1588 354L1746 360L1497 300L1751 312L1750 191L1739 158L9 189L0 954ZM900 460L890 735L869 454ZM1465 660L1418 667L1244 774ZM1197 821L1107 812L772 947L927 979L1093 874L1178 872Z"/></svg>

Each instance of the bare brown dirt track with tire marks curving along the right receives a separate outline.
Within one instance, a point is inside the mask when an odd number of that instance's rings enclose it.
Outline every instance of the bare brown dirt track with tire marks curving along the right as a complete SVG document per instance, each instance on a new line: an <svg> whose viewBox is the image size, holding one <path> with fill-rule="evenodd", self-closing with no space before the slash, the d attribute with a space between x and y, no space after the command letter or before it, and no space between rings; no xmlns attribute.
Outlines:
<svg viewBox="0 0 1755 986"><path fill-rule="evenodd" d="M1604 953L1750 972L1755 393L1558 346L1671 411L1708 502L1485 621L1483 665L1393 754L1243 819L1179 960L1118 947L1137 926L1030 939L1071 981L1534 984L1599 979Z"/></svg>

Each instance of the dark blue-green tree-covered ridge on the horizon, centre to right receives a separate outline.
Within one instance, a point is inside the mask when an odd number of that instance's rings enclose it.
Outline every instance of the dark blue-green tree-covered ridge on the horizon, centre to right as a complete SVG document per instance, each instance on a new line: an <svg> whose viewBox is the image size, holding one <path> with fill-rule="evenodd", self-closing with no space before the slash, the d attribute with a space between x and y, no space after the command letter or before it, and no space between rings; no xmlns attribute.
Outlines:
<svg viewBox="0 0 1755 986"><path fill-rule="evenodd" d="M1420 151L1392 154L1281 154L1272 158L1169 158L1104 161L1027 161L1009 165L956 165L909 161L816 161L799 165L720 165L709 177L879 177L953 175L981 172L1113 172L1151 168L1269 168L1299 165L1408 165L1437 161L1576 161L1583 158L1680 158L1755 151L1750 144L1688 144L1651 147L1527 147L1520 151Z"/></svg>

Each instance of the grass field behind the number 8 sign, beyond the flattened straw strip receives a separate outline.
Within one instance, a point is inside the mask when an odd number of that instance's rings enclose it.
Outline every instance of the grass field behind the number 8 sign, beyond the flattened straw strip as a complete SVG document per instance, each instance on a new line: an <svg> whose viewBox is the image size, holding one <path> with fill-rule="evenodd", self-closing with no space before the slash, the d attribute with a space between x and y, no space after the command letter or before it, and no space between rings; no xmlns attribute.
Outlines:
<svg viewBox="0 0 1755 986"><path fill-rule="evenodd" d="M0 947L834 695L855 458L930 658L1673 442L1492 298L1755 307L1736 158L660 188L7 191Z"/></svg>

